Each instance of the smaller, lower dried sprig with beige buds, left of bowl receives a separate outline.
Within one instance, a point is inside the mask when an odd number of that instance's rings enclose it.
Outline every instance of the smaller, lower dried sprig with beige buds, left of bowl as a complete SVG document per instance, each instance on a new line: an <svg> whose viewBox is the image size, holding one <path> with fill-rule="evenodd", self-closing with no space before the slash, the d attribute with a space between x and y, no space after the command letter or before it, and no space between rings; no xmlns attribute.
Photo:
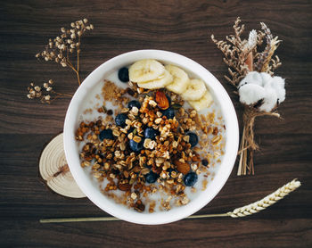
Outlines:
<svg viewBox="0 0 312 248"><path fill-rule="evenodd" d="M55 99L61 96L70 96L69 94L63 94L53 90L53 80L50 79L48 82L44 83L42 87L35 86L34 83L30 83L28 87L29 94L27 97L29 99L39 99L41 103L52 103Z"/></svg>

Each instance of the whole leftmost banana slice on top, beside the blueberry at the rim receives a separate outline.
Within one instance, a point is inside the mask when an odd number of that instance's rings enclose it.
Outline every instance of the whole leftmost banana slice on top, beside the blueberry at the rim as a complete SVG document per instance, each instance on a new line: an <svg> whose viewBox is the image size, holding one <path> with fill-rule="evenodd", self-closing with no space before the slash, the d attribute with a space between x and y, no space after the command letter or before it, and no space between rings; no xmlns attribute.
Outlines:
<svg viewBox="0 0 312 248"><path fill-rule="evenodd" d="M129 79L135 83L144 83L158 79L165 72L165 67L155 60L141 60L129 68Z"/></svg>

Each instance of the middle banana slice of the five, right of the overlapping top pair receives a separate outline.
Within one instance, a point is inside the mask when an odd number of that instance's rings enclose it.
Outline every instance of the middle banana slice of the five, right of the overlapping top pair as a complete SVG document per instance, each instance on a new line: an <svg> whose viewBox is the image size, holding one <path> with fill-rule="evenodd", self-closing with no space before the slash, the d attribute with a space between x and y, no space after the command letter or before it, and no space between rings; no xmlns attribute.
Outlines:
<svg viewBox="0 0 312 248"><path fill-rule="evenodd" d="M178 68L172 64L166 65L165 69L168 70L168 72L173 76L172 83L166 86L168 90L178 95L182 94L190 80L185 70L182 70L181 68Z"/></svg>

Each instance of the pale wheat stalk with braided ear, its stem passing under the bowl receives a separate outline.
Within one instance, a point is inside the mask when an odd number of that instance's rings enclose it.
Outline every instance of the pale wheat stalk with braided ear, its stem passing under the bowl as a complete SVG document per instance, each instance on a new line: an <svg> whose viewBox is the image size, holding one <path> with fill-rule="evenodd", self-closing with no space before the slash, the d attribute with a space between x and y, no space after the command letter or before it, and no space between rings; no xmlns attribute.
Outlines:
<svg viewBox="0 0 312 248"><path fill-rule="evenodd" d="M277 203L282 200L287 194L296 190L301 186L300 181L293 179L288 184L280 187L274 193L267 195L265 198L261 199L256 203L251 203L249 205L243 206L241 208L234 209L234 211L228 211L226 213L216 213L216 214L201 214L201 215L191 215L186 219L202 219L202 218L214 218L214 217L245 217L259 211L267 209L267 207ZM83 222L83 221L111 221L111 220L121 220L115 217L86 217L86 218L62 218L62 219L40 219L40 223L63 223L63 222Z"/></svg>

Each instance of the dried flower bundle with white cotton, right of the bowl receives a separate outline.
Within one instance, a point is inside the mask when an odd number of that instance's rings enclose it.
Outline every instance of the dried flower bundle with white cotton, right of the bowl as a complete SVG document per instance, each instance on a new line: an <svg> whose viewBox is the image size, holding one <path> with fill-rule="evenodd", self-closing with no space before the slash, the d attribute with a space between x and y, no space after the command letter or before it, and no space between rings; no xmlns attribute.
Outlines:
<svg viewBox="0 0 312 248"><path fill-rule="evenodd" d="M269 115L279 118L275 109L285 98L284 79L272 77L274 70L282 64L277 55L273 58L280 40L273 37L265 23L260 22L260 25L262 30L253 29L249 37L243 39L241 35L244 25L241 26L241 19L238 17L234 22L234 35L227 36L226 41L218 41L211 35L212 41L225 55L223 60L229 72L229 76L226 75L225 78L238 90L240 101L244 105L237 175L246 175L247 172L254 174L253 153L259 149L253 132L256 117ZM266 47L263 52L258 52L264 40ZM260 74L261 72L265 73Z"/></svg>

